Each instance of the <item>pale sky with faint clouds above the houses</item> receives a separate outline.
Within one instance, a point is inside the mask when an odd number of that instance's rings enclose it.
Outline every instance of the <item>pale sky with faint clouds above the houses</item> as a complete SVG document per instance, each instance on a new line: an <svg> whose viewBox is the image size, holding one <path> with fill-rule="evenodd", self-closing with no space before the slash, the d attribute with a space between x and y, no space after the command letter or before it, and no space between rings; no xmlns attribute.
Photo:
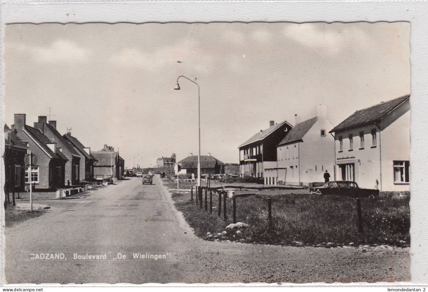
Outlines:
<svg viewBox="0 0 428 292"><path fill-rule="evenodd" d="M5 122L48 115L125 167L198 151L238 163L237 147L268 128L355 110L410 93L410 24L9 24ZM180 63L179 63L179 62Z"/></svg>

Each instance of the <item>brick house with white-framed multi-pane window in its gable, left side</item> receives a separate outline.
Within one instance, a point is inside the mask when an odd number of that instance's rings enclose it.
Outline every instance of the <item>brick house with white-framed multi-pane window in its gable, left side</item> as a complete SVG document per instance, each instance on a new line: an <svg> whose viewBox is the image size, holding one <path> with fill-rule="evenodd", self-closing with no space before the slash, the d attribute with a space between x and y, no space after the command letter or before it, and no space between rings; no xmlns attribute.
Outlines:
<svg viewBox="0 0 428 292"><path fill-rule="evenodd" d="M36 155L37 163L25 170L25 183L31 183L36 189L55 189L64 186L65 162L68 159L62 154L62 149L56 147L39 129L25 124L25 114L14 116L16 135L22 142L27 143L28 149Z"/></svg>

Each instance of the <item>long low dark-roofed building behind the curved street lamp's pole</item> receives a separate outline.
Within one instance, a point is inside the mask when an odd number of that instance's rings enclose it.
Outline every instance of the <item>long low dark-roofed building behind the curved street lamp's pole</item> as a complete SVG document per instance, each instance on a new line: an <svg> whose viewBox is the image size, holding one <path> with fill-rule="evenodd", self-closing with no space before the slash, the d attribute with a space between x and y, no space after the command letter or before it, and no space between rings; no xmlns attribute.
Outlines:
<svg viewBox="0 0 428 292"><path fill-rule="evenodd" d="M198 174L198 156L187 156L181 161L178 161L181 169L185 169L187 174ZM216 165L217 164L217 165ZM205 173L222 174L224 173L225 163L211 155L201 155L201 175Z"/></svg>

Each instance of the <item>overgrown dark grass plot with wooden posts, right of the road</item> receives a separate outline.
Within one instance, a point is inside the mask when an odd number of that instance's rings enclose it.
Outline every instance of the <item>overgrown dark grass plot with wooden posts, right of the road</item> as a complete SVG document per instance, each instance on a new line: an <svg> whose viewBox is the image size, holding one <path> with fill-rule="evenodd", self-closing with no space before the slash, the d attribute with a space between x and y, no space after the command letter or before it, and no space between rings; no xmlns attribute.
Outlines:
<svg viewBox="0 0 428 292"><path fill-rule="evenodd" d="M264 191L267 192L267 191ZM291 190L290 192L295 192ZM205 197L205 196L204 196ZM410 244L410 195L381 194L361 199L363 232L358 231L354 198L309 194L272 196L272 220L268 220L267 196L236 197L236 220L248 228L226 229L232 223L232 200L226 199L227 219L218 212L218 196L213 194L212 213L190 203L190 194L172 194L175 206L199 237L291 245ZM209 233L207 233L209 232ZM225 233L226 232L226 233Z"/></svg>

